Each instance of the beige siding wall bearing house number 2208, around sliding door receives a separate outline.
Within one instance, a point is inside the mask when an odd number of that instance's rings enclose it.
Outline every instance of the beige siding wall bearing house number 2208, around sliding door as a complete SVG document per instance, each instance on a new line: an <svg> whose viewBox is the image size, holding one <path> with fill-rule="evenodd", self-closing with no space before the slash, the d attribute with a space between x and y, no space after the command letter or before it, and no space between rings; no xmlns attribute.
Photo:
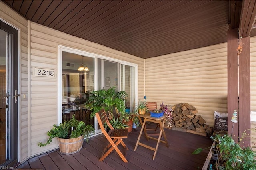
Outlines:
<svg viewBox="0 0 256 170"><path fill-rule="evenodd" d="M57 123L58 81L51 78L33 77L33 67L57 69L58 45L120 59L138 64L139 79L144 77L144 59L135 57L102 45L92 43L68 34L31 23L31 150L36 155L57 147L57 143L40 148L38 142L47 138L46 132ZM58 74L57 74L58 76ZM139 85L142 91L143 85Z"/></svg>

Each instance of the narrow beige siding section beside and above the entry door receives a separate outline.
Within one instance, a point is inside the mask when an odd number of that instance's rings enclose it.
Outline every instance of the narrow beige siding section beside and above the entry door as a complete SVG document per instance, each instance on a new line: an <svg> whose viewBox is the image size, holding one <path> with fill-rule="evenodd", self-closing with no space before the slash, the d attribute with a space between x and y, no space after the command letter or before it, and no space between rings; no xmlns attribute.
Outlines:
<svg viewBox="0 0 256 170"><path fill-rule="evenodd" d="M20 50L19 50L19 93L20 96L25 95L25 98L20 97L20 112L18 113L19 121L19 143L20 147L20 162L28 158L29 150L29 125L28 125L28 20L22 18L16 12L11 10L6 4L0 2L1 19L8 22L12 26L20 29Z"/></svg>

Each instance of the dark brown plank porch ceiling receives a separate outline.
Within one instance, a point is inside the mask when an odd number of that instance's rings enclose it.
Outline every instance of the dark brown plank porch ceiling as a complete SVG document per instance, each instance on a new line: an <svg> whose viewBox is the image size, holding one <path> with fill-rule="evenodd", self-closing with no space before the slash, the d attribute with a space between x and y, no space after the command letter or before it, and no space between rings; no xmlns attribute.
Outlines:
<svg viewBox="0 0 256 170"><path fill-rule="evenodd" d="M3 2L32 22L142 58L227 42L234 19L230 6L236 5L223 0ZM241 10L236 10L238 18Z"/></svg>

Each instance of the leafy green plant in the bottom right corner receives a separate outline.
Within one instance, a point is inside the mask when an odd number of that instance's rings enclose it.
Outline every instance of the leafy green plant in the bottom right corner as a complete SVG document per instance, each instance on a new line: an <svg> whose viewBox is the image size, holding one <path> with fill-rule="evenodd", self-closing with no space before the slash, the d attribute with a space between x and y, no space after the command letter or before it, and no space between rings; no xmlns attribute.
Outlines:
<svg viewBox="0 0 256 170"><path fill-rule="evenodd" d="M226 134L212 136L215 145L210 147L214 149L216 155L214 155L214 159L210 161L208 167L212 170L255 170L256 151L253 151L250 146L241 147L239 145L245 137L249 136L244 132L242 139L236 143L231 136ZM199 154L202 150L204 149L198 148L192 154Z"/></svg>

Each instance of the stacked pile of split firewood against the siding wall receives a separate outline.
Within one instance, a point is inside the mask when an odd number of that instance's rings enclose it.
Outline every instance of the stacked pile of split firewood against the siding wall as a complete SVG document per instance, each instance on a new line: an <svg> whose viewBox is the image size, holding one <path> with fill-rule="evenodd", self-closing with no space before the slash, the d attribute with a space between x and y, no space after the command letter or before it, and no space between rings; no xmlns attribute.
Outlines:
<svg viewBox="0 0 256 170"><path fill-rule="evenodd" d="M172 129L210 136L213 128L206 125L206 121L198 115L198 111L188 103L179 103L172 107L173 124Z"/></svg>

